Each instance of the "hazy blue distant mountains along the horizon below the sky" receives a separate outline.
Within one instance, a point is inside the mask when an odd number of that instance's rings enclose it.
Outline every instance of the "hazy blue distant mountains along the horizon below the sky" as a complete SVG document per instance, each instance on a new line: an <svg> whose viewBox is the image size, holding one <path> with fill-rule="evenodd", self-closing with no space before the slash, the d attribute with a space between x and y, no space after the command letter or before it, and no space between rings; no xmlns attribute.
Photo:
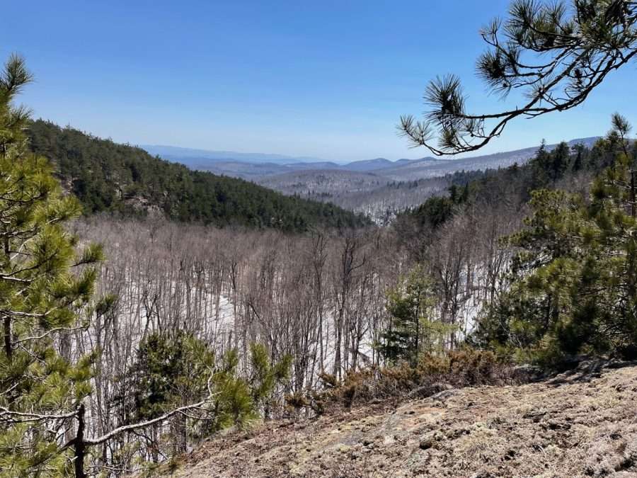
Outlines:
<svg viewBox="0 0 637 478"><path fill-rule="evenodd" d="M569 145L592 146L599 137L578 138ZM547 149L556 147L547 145ZM338 164L311 157L287 157L280 154L239 153L230 151L207 151L173 146L141 146L150 154L185 164L190 169L211 171L225 176L235 176L253 181L297 171L355 171L374 173L390 181L408 181L420 178L444 176L454 171L475 171L524 163L536 153L537 147L516 149L515 151L486 154L462 159L442 159L425 157L421 159L385 158L352 161Z"/></svg>

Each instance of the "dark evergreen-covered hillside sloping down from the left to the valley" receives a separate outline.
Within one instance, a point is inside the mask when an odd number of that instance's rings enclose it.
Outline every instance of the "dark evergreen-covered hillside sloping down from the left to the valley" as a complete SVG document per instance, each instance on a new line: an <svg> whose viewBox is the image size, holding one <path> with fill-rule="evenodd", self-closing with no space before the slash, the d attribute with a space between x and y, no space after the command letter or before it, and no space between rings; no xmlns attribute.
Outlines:
<svg viewBox="0 0 637 478"><path fill-rule="evenodd" d="M28 135L33 152L54 162L62 184L88 213L144 215L154 210L183 222L297 232L313 226L368 224L361 215L332 204L287 197L241 179L191 171L143 149L70 127L37 120Z"/></svg>

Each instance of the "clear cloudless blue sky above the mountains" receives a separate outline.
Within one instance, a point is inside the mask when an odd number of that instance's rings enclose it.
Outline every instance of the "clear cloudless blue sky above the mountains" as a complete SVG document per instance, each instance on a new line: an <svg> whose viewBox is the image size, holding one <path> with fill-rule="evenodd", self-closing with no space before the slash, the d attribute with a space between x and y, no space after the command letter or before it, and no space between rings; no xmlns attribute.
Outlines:
<svg viewBox="0 0 637 478"><path fill-rule="evenodd" d="M474 75L491 1L13 1L0 54L37 77L37 117L133 144L307 155L423 157L396 135L427 81L455 73L469 106L498 108ZM637 123L636 65L577 110L509 127L487 152Z"/></svg>

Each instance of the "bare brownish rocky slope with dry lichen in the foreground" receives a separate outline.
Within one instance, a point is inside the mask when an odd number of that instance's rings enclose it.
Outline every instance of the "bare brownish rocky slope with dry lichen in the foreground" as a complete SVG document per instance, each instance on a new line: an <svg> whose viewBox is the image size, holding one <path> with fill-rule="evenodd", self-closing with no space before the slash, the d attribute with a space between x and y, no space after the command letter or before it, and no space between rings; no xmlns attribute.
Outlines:
<svg viewBox="0 0 637 478"><path fill-rule="evenodd" d="M621 364L614 365L619 367ZM637 366L440 392L217 438L174 477L633 477Z"/></svg>

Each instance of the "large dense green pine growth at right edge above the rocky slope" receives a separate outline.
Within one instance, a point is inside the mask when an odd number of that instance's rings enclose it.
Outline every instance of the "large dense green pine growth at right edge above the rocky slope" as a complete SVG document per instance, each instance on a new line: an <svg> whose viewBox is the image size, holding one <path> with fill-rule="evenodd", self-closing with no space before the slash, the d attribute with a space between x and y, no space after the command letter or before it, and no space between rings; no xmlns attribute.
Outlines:
<svg viewBox="0 0 637 478"><path fill-rule="evenodd" d="M614 121L602 143L614 166L591 197L538 190L518 248L512 285L487 314L481 333L496 348L556 363L568 355L635 355L637 230L635 158L628 125Z"/></svg>

